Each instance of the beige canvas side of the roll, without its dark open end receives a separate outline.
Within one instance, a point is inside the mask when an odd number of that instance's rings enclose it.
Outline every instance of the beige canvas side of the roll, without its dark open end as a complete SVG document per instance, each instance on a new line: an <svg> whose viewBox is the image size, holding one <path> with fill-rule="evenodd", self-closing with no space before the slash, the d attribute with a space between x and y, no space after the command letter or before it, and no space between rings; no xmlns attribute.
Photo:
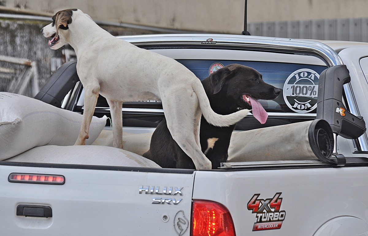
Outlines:
<svg viewBox="0 0 368 236"><path fill-rule="evenodd" d="M308 139L312 121L233 132L227 162L318 160Z"/></svg>

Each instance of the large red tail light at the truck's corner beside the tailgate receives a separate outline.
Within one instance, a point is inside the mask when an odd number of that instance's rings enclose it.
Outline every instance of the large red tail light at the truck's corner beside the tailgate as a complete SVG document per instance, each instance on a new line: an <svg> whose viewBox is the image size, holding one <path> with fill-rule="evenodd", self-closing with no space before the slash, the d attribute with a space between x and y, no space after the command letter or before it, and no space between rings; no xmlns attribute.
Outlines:
<svg viewBox="0 0 368 236"><path fill-rule="evenodd" d="M192 236L235 236L229 210L213 201L194 200Z"/></svg>

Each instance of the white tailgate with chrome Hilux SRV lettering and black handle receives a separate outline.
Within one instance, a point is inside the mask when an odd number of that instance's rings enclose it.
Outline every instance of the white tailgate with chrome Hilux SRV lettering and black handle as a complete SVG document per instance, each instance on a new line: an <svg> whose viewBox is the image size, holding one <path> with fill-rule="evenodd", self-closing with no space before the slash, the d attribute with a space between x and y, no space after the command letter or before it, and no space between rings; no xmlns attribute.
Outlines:
<svg viewBox="0 0 368 236"><path fill-rule="evenodd" d="M0 164L1 235L190 233L193 171L11 164ZM65 183L9 182L11 173L62 175ZM52 217L29 216L44 208Z"/></svg>

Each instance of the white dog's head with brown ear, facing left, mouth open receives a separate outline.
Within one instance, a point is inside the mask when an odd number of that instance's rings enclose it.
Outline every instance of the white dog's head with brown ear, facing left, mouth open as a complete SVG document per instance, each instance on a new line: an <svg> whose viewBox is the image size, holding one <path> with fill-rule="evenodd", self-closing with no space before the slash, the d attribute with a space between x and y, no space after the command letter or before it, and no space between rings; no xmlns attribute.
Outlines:
<svg viewBox="0 0 368 236"><path fill-rule="evenodd" d="M49 47L59 49L69 42L70 26L77 15L84 14L79 9L66 9L56 12L52 17L52 23L41 29L43 36L51 37ZM84 14L87 15L87 14ZM89 15L87 15L89 17ZM89 17L91 19L91 17Z"/></svg>

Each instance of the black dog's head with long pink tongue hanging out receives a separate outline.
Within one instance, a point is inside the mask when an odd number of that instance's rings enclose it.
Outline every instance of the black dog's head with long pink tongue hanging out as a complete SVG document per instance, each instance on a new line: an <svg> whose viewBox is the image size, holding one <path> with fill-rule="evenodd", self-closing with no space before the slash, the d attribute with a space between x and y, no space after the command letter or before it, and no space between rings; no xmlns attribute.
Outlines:
<svg viewBox="0 0 368 236"><path fill-rule="evenodd" d="M281 92L280 89L264 82L258 71L239 64L219 69L210 76L210 81L213 94L227 99L232 103L229 106L234 109L252 109L252 114L262 124L266 122L267 113L257 100L276 99Z"/></svg>

